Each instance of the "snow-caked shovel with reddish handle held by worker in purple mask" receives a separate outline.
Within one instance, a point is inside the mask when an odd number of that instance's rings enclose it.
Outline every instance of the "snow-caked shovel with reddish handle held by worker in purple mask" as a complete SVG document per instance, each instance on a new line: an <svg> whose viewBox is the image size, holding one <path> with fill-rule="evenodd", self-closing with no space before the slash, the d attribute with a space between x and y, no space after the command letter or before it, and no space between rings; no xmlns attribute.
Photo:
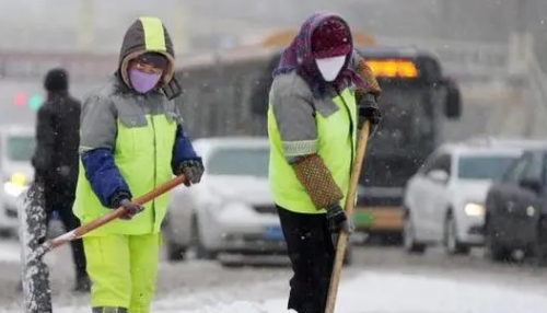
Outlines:
<svg viewBox="0 0 547 313"><path fill-rule="evenodd" d="M179 175L135 199L135 202L144 205L154 198L183 184L186 177ZM49 270L43 256L66 243L118 219L124 215L124 208L112 212L78 229L69 231L55 239L42 242L46 237L46 210L43 207L44 189L39 184L33 184L23 200L20 209L21 260L23 265L23 309L25 313L50 313L51 290L49 288Z"/></svg>

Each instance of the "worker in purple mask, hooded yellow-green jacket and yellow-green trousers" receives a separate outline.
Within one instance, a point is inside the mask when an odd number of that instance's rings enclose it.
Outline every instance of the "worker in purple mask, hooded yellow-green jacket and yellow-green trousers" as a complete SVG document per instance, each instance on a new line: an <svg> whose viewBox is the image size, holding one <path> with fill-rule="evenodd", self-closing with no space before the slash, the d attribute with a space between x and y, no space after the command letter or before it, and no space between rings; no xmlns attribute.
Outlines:
<svg viewBox="0 0 547 313"><path fill-rule="evenodd" d="M127 211L83 237L95 313L150 311L168 196L146 209L131 199L173 174L185 174L189 186L203 173L172 101L181 94L174 56L163 23L138 19L124 37L116 73L83 102L73 211L82 223L114 208Z"/></svg>

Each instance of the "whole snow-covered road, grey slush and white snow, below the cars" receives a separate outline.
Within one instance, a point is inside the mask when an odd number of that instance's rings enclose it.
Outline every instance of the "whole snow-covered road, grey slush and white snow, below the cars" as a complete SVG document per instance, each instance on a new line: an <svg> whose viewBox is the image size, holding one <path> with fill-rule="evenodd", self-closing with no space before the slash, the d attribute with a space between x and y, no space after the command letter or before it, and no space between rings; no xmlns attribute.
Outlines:
<svg viewBox="0 0 547 313"><path fill-rule="evenodd" d="M400 248L363 247L345 268L339 313L539 313L547 308L547 270L525 264L493 265L480 254L423 256ZM86 294L70 292L70 250L48 255L56 313L90 312ZM21 312L16 243L0 241L0 313ZM153 312L287 312L288 267L223 268L213 262L160 266Z"/></svg>

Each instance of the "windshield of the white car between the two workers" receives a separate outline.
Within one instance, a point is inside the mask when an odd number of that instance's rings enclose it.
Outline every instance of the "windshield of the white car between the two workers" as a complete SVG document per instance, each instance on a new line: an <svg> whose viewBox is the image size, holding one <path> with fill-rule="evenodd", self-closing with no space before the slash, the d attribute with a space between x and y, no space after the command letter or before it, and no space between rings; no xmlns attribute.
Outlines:
<svg viewBox="0 0 547 313"><path fill-rule="evenodd" d="M268 148L222 148L207 162L209 175L268 177Z"/></svg>

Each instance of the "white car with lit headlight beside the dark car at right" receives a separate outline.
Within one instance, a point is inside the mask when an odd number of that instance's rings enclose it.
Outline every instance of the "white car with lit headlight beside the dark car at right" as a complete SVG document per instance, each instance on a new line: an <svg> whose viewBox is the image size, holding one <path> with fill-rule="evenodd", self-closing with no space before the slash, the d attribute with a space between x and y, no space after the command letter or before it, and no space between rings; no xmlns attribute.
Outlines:
<svg viewBox="0 0 547 313"><path fill-rule="evenodd" d="M543 141L469 140L446 143L408 181L404 196L404 246L423 253L442 243L449 254L467 254L484 243L485 199L492 179L526 147Z"/></svg>

